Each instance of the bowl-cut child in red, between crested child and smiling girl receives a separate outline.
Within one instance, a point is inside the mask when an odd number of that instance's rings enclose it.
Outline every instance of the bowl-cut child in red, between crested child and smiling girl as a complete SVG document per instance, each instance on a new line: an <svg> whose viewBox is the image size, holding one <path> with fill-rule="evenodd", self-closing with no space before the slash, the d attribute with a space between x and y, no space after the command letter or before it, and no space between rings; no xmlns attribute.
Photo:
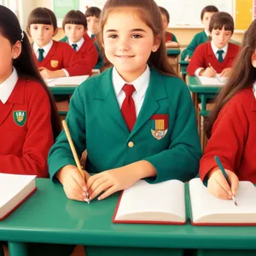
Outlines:
<svg viewBox="0 0 256 256"><path fill-rule="evenodd" d="M62 27L67 35L67 43L83 60L84 69L91 73L98 60L98 52L88 36L85 16L79 10L71 10L65 16Z"/></svg>

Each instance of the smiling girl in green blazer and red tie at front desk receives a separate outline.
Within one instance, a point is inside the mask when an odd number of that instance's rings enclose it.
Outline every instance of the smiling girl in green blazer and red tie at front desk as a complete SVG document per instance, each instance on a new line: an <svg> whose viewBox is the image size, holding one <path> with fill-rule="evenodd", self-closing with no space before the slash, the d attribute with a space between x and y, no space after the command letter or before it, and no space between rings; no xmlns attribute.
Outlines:
<svg viewBox="0 0 256 256"><path fill-rule="evenodd" d="M120 22L121 20L121 22ZM49 173L68 198L102 200L139 179L189 180L201 147L189 90L167 56L160 9L153 0L108 0L99 39L113 67L75 91L67 125L84 174L64 132L49 152ZM90 173L96 173L90 176Z"/></svg>

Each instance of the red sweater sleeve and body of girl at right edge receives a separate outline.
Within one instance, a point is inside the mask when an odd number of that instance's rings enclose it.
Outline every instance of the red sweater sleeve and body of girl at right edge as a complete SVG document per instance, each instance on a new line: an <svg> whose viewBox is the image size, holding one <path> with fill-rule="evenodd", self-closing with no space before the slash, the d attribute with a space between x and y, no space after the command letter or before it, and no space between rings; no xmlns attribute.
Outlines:
<svg viewBox="0 0 256 256"><path fill-rule="evenodd" d="M256 100L252 87L238 92L218 113L200 162L202 180L218 166L214 155L239 180L256 183Z"/></svg>

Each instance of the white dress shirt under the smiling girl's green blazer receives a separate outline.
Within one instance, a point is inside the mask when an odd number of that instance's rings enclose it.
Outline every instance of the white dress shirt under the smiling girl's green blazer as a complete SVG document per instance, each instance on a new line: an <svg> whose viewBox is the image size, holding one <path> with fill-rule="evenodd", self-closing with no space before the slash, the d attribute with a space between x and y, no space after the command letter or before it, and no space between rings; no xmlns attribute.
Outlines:
<svg viewBox="0 0 256 256"><path fill-rule="evenodd" d="M115 67L113 67L112 73L112 83L113 90L115 92L115 96L117 97L117 101L119 102L119 108L122 107L122 104L125 100L125 91L122 90L125 84L132 84L135 88L134 93L132 94L133 101L135 103L136 116L140 112L143 101L145 98L146 90L148 89L150 79L150 69L147 65L146 70L141 74L136 80L131 83L126 83L124 79L119 75Z"/></svg>

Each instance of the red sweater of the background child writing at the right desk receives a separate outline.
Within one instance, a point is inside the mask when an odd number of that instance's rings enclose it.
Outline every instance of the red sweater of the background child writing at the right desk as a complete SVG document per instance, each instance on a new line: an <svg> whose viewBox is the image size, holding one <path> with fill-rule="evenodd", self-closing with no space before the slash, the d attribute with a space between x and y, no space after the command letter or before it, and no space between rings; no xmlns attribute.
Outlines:
<svg viewBox="0 0 256 256"><path fill-rule="evenodd" d="M219 62L212 51L211 42L200 44L196 47L194 54L189 61L189 66L187 67L187 72L189 76L195 76L195 71L203 67L207 69L209 63L216 70L217 73L222 73L224 68L232 67L233 61L239 52L240 47L236 44L229 43L227 54L224 57L223 62Z"/></svg>

